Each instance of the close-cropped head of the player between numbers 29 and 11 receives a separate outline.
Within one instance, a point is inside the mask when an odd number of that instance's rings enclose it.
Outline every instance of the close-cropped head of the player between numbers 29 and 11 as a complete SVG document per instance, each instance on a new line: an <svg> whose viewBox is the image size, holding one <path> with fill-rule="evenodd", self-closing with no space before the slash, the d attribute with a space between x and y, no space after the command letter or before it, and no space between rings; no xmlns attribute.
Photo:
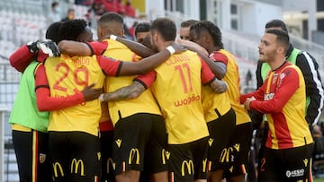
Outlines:
<svg viewBox="0 0 324 182"><path fill-rule="evenodd" d="M107 35L124 36L123 18L119 13L104 13L98 21L98 38L103 39Z"/></svg>

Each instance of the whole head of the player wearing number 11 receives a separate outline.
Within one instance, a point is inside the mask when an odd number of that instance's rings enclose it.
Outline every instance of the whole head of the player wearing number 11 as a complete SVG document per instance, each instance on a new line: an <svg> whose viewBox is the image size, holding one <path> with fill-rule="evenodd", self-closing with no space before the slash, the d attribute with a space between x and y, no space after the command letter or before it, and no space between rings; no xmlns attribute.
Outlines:
<svg viewBox="0 0 324 182"><path fill-rule="evenodd" d="M167 41L175 41L175 22L168 18L157 18L149 29L152 48L159 51L160 46Z"/></svg>

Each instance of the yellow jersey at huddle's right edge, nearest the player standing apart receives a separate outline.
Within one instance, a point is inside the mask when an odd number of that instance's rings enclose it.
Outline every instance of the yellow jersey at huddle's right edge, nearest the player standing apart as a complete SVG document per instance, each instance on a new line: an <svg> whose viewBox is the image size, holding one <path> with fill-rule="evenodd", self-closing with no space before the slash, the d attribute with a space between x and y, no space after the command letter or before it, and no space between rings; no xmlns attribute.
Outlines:
<svg viewBox="0 0 324 182"><path fill-rule="evenodd" d="M222 79L228 84L228 91L226 94L229 96L230 105L236 114L236 125L241 125L251 122L251 118L247 114L247 110L239 103L240 97L240 83L238 63L235 57L225 49L220 49L211 53L211 59L214 61L222 62L226 65L227 71Z"/></svg>

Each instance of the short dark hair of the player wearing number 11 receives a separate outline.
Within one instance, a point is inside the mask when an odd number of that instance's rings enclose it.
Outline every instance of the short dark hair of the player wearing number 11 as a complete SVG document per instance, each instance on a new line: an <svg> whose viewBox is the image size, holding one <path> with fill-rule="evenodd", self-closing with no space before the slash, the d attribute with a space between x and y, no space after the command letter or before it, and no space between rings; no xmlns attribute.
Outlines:
<svg viewBox="0 0 324 182"><path fill-rule="evenodd" d="M168 18L157 18L149 30L157 30L166 41L174 41L176 36L175 22Z"/></svg>

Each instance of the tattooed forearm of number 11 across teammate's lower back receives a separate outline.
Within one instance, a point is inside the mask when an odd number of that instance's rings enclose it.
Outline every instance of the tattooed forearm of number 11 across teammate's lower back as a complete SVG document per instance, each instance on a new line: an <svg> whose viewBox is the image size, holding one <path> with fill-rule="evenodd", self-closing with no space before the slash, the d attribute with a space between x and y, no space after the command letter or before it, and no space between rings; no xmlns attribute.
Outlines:
<svg viewBox="0 0 324 182"><path fill-rule="evenodd" d="M138 98L139 95L145 91L145 87L139 82L133 82L130 86L122 87L116 91L104 93L104 101L116 101L116 100L127 100Z"/></svg>

